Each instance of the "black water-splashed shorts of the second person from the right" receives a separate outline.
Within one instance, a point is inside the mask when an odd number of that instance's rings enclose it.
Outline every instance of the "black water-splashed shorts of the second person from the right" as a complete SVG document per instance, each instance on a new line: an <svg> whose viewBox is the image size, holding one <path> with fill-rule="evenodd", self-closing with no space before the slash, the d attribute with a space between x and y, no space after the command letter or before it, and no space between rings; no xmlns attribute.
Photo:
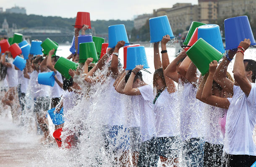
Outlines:
<svg viewBox="0 0 256 167"><path fill-rule="evenodd" d="M222 161L223 145L204 143L204 167L220 167Z"/></svg>

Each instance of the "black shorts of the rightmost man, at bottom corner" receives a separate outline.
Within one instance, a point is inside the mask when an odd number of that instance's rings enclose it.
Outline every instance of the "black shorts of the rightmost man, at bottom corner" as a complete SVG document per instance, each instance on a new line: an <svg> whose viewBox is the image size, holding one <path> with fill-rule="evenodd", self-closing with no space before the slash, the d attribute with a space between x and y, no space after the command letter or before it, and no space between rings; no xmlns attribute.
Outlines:
<svg viewBox="0 0 256 167"><path fill-rule="evenodd" d="M256 156L252 155L232 155L225 153L222 167L251 167L256 161Z"/></svg>

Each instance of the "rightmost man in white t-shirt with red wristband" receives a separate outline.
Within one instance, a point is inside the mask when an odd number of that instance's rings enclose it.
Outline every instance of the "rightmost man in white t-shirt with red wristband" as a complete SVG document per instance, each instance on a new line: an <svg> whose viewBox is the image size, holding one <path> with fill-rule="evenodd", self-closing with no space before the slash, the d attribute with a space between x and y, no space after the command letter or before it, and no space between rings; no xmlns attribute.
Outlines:
<svg viewBox="0 0 256 167"><path fill-rule="evenodd" d="M256 61L244 59L244 52L251 44L250 39L241 41L234 63L235 83L226 78L227 66L235 54L227 54L214 73L214 81L232 99L220 99L222 108L228 106L224 140L224 166L251 166L256 161L256 146L253 129L256 125Z"/></svg>

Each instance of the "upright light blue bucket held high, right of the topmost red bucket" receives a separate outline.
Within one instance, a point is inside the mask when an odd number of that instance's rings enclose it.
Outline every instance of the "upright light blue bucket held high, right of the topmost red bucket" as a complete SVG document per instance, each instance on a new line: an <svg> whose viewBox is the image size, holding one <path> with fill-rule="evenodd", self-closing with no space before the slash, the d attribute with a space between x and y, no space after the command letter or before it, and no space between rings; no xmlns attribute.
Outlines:
<svg viewBox="0 0 256 167"><path fill-rule="evenodd" d="M111 25L108 27L108 48L115 48L120 40L125 41L125 46L130 45L125 30L125 25Z"/></svg>

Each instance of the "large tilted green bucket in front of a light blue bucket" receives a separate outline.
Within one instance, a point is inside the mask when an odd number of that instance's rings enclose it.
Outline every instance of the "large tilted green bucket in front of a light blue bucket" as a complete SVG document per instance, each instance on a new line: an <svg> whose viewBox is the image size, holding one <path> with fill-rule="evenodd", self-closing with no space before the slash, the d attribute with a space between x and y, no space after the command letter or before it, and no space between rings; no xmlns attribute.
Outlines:
<svg viewBox="0 0 256 167"><path fill-rule="evenodd" d="M197 40L186 53L202 75L209 71L209 63L214 60L219 61L223 56L222 53L202 38Z"/></svg>

